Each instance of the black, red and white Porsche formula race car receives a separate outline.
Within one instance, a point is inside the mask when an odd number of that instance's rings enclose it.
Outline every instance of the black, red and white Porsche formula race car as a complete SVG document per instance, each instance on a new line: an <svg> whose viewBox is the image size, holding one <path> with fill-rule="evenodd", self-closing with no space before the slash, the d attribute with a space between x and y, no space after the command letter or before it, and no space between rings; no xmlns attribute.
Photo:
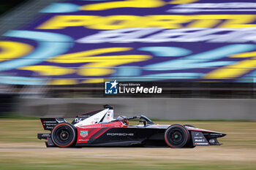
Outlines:
<svg viewBox="0 0 256 170"><path fill-rule="evenodd" d="M139 125L129 125L129 120ZM195 147L220 145L217 138L226 134L195 128L192 125L156 125L148 117L113 118L113 107L77 115L72 123L64 118L40 118L44 130L37 134L47 139L47 147Z"/></svg>

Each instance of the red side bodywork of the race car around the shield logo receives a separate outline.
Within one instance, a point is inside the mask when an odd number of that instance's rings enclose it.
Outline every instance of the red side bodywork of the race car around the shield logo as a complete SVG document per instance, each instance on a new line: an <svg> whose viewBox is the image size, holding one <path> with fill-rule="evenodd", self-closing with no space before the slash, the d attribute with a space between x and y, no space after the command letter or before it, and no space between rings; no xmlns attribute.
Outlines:
<svg viewBox="0 0 256 170"><path fill-rule="evenodd" d="M110 123L99 123L94 125L83 125L77 126L78 129L78 139L77 144L87 143L89 139L97 139L99 136L102 136L110 128L124 128L127 125L124 125L121 121L110 122ZM88 136L80 136L80 131L88 131Z"/></svg>

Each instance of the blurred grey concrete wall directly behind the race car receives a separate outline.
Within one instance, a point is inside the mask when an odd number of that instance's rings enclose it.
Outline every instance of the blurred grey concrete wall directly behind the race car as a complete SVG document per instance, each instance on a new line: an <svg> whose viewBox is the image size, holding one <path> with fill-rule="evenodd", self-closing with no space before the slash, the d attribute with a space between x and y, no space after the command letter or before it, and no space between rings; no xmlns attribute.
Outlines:
<svg viewBox="0 0 256 170"><path fill-rule="evenodd" d="M256 120L255 99L209 98L20 98L17 112L41 117L74 117L115 107L115 115L166 120Z"/></svg>

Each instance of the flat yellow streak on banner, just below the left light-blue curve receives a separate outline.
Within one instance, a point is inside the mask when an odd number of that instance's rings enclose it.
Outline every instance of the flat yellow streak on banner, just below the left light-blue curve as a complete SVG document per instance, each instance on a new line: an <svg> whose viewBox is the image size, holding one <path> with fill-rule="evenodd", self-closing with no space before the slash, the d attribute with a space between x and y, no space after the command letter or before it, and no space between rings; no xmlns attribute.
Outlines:
<svg viewBox="0 0 256 170"><path fill-rule="evenodd" d="M76 72L75 69L67 69L61 66L24 66L20 69L38 72L44 76L59 76Z"/></svg>

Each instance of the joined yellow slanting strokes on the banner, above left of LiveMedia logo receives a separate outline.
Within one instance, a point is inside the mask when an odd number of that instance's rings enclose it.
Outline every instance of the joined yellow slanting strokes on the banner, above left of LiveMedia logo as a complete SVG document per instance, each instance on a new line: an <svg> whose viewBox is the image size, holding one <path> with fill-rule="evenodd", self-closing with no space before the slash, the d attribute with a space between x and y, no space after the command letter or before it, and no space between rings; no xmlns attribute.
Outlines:
<svg viewBox="0 0 256 170"><path fill-rule="evenodd" d="M147 61L151 55L102 55L105 53L116 53L132 50L131 47L109 47L95 50L87 50L78 53L59 55L51 58L53 63L86 63L80 66L78 74L83 76L102 76L115 72L111 67L120 66L126 63Z"/></svg>

